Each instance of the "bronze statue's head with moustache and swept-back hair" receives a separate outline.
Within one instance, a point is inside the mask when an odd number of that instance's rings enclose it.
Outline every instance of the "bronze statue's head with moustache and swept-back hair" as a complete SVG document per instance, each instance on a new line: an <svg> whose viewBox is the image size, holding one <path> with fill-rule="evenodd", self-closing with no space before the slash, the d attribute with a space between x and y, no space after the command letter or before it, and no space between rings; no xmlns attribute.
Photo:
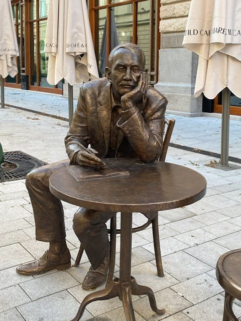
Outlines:
<svg viewBox="0 0 241 321"><path fill-rule="evenodd" d="M105 74L112 84L115 98L120 100L137 86L140 74L145 70L145 54L135 44L121 44L112 49L108 62Z"/></svg>

